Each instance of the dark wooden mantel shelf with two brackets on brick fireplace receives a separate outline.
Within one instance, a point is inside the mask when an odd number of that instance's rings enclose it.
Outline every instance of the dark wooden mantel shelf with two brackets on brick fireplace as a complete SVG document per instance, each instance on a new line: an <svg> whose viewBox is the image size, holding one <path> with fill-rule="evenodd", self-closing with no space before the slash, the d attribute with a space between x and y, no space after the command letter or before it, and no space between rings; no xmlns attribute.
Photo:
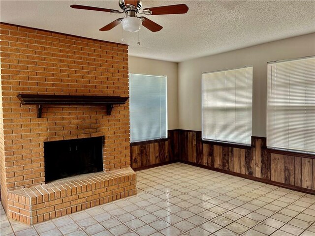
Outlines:
<svg viewBox="0 0 315 236"><path fill-rule="evenodd" d="M110 116L115 104L125 104L128 97L120 96L78 96L78 95L46 95L19 94L17 96L23 105L33 104L37 107L37 118L41 118L43 105L102 105L107 107Z"/></svg>

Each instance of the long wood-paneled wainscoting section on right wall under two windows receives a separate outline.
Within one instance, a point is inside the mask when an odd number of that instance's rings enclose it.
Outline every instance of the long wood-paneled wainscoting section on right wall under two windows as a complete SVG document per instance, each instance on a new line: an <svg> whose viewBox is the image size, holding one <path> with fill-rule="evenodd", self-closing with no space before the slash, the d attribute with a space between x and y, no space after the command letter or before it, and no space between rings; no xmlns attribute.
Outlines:
<svg viewBox="0 0 315 236"><path fill-rule="evenodd" d="M202 142L201 131L180 130L179 144L180 161L315 190L315 156L273 153L265 138L252 137L252 147L233 148Z"/></svg>

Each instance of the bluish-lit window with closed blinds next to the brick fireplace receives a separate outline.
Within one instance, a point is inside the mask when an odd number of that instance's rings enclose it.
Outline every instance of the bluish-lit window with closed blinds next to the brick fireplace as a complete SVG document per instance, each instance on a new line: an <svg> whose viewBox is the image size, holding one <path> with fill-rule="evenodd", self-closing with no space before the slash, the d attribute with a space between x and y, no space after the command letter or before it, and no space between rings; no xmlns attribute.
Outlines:
<svg viewBox="0 0 315 236"><path fill-rule="evenodd" d="M166 77L129 74L130 141L167 138Z"/></svg>

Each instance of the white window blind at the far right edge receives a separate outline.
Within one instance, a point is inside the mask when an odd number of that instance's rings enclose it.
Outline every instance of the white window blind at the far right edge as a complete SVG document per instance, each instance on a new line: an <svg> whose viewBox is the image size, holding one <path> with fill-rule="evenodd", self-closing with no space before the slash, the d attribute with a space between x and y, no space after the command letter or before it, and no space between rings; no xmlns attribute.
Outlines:
<svg viewBox="0 0 315 236"><path fill-rule="evenodd" d="M267 146L315 153L315 57L268 63Z"/></svg>

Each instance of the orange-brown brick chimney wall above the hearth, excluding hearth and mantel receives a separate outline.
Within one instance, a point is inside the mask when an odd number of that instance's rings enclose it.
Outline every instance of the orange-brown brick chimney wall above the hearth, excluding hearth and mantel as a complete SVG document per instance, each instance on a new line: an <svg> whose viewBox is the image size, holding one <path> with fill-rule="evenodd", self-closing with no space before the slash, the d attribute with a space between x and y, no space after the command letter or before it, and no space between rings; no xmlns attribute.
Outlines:
<svg viewBox="0 0 315 236"><path fill-rule="evenodd" d="M105 107L51 105L36 118L36 106L21 105L16 97L19 93L128 97L127 45L6 24L0 24L0 34L2 193L44 183L45 141L103 135L104 171L128 167L128 102L114 105L111 116Z"/></svg>

